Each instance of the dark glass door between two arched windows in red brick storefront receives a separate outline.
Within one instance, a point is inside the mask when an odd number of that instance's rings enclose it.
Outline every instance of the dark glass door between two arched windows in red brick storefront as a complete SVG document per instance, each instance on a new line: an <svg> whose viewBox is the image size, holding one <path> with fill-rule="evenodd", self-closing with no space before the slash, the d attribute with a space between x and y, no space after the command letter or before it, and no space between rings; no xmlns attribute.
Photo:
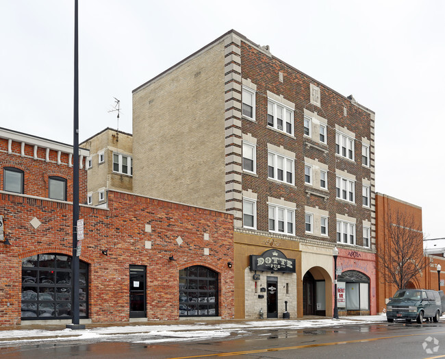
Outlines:
<svg viewBox="0 0 445 359"><path fill-rule="evenodd" d="M130 318L147 317L145 267L130 265Z"/></svg>

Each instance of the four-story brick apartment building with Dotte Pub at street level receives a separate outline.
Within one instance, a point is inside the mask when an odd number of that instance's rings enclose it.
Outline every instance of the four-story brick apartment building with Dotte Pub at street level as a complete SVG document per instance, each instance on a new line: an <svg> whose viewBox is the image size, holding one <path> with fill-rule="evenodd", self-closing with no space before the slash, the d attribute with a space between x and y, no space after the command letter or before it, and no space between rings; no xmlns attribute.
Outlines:
<svg viewBox="0 0 445 359"><path fill-rule="evenodd" d="M235 315L375 314L372 110L229 31L133 90L133 190L233 214Z"/></svg>

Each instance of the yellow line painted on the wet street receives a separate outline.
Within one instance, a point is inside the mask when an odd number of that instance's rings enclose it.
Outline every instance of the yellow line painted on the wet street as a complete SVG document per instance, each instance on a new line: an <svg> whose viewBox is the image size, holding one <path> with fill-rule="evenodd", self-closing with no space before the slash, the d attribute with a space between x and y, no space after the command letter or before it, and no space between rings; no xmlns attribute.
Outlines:
<svg viewBox="0 0 445 359"><path fill-rule="evenodd" d="M429 334L443 334L444 332L435 332ZM201 356L179 356L177 358L169 358L169 359L190 359L190 358L205 358L207 356L239 356L239 355L247 355L247 354L257 354L257 353L266 353L267 351L281 351L281 350L292 350L292 349L305 349L305 348L314 348L314 347L325 347L327 345L339 345L339 344L350 344L350 343L364 343L364 342L372 342L372 341L380 341L381 339L392 339L392 338L404 338L407 336L424 336L425 334L407 334L407 335L395 335L395 336L382 336L380 338L369 338L369 339L357 339L355 341L341 341L341 342L332 342L332 343L320 343L320 344L307 344L307 345L296 345L295 347L281 347L281 348L271 348L271 349L256 349L256 350L246 350L246 351L233 351L231 353L220 353L220 354L204 354ZM435 358L445 358L444 356L432 356L431 358L425 359L435 359Z"/></svg>

